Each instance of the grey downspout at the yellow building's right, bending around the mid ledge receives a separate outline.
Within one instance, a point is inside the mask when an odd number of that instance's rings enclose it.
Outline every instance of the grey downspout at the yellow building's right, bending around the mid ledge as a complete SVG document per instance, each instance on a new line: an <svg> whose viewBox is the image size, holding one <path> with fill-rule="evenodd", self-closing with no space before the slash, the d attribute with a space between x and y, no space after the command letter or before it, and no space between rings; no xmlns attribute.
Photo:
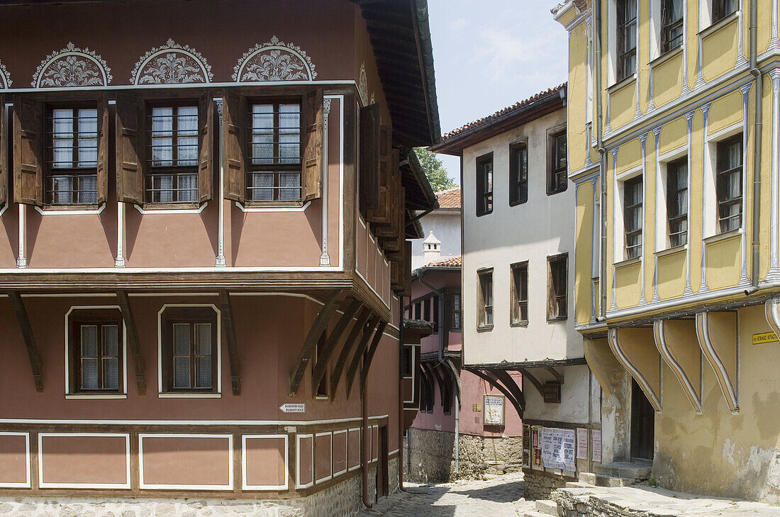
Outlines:
<svg viewBox="0 0 780 517"><path fill-rule="evenodd" d="M750 288L745 294L750 295L758 290L759 239L761 238L761 136L764 130L762 116L764 111L764 78L758 69L758 0L750 0L750 73L756 81L756 113L753 122L753 267L750 268Z"/></svg>

